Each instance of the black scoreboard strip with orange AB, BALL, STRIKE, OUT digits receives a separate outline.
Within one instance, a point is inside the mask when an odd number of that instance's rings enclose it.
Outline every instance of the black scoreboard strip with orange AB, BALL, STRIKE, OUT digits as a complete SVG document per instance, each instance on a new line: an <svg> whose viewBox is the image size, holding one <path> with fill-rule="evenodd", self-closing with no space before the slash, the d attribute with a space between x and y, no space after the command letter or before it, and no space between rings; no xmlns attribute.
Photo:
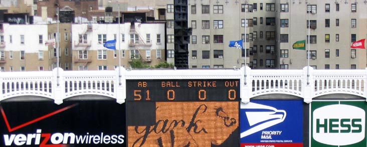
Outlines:
<svg viewBox="0 0 367 147"><path fill-rule="evenodd" d="M126 80L126 100L240 101L240 80Z"/></svg>

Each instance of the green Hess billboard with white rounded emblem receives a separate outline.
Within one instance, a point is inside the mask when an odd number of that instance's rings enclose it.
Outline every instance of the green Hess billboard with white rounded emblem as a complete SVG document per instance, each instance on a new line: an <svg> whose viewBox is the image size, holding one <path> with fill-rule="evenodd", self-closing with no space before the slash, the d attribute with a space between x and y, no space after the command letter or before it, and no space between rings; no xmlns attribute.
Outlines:
<svg viewBox="0 0 367 147"><path fill-rule="evenodd" d="M311 146L367 146L366 109L365 101L313 101Z"/></svg>

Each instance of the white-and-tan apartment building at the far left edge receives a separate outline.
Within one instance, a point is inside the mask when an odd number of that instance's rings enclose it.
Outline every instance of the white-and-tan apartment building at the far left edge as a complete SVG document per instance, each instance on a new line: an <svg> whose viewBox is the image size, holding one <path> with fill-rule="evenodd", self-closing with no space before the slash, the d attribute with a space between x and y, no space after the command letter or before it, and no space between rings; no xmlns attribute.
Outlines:
<svg viewBox="0 0 367 147"><path fill-rule="evenodd" d="M1 71L52 70L47 25L2 24L0 31Z"/></svg>

